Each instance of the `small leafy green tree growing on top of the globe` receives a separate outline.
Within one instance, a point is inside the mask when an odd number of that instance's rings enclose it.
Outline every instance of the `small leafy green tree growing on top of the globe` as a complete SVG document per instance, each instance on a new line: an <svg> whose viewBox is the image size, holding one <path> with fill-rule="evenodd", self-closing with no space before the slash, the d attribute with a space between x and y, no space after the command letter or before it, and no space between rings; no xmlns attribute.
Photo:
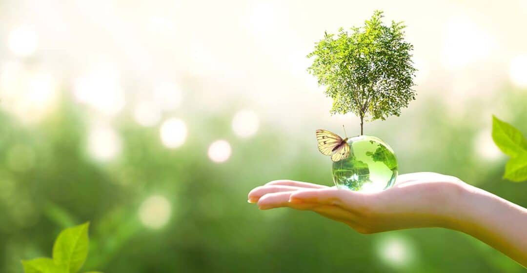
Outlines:
<svg viewBox="0 0 527 273"><path fill-rule="evenodd" d="M331 114L357 115L361 135L365 118L399 116L401 108L415 99L412 87L417 70L411 59L413 46L404 41L405 25L392 21L386 26L382 18L383 12L375 11L362 28L325 33L307 55L315 57L309 73L333 98Z"/></svg>

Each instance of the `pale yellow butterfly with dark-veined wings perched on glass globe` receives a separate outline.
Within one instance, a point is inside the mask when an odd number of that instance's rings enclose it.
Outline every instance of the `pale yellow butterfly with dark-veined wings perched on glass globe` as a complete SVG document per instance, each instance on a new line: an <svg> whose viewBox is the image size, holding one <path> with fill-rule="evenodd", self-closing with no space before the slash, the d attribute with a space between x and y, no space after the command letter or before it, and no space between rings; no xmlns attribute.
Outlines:
<svg viewBox="0 0 527 273"><path fill-rule="evenodd" d="M334 162L348 158L350 148L346 142L348 140L347 137L343 139L337 134L324 129L318 129L316 135L320 153L331 156L331 160Z"/></svg>

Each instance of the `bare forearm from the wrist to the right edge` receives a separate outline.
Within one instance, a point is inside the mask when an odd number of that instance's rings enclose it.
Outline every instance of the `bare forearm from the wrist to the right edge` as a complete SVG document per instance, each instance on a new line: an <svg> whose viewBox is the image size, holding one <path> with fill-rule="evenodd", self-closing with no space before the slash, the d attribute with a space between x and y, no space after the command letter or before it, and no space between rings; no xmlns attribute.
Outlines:
<svg viewBox="0 0 527 273"><path fill-rule="evenodd" d="M465 232L527 267L527 209L466 185L452 228Z"/></svg>

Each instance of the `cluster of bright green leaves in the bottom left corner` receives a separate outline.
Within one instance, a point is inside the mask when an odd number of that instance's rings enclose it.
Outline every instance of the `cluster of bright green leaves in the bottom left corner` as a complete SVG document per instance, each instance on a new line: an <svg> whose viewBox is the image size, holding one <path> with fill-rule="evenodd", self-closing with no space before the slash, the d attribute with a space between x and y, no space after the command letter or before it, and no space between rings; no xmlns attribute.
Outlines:
<svg viewBox="0 0 527 273"><path fill-rule="evenodd" d="M76 273L88 256L89 223L61 231L53 245L53 259L22 261L25 273ZM86 273L97 273L94 271Z"/></svg>

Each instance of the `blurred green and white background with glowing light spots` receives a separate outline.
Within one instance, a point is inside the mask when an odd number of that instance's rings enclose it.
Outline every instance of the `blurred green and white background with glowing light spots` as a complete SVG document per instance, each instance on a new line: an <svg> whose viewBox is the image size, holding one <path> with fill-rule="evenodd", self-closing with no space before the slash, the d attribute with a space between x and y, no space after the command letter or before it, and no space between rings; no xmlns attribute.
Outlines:
<svg viewBox="0 0 527 273"><path fill-rule="evenodd" d="M358 119L329 115L305 55L324 29L382 7L406 21L425 65L416 102L365 133L394 148L401 173L454 175L527 207L527 184L501 178L506 157L490 131L495 114L527 133L527 41L521 24L502 27L527 12L516 2L475 15L470 1L363 3L351 14L338 1L46 3L0 7L0 271L50 256L58 232L84 221L84 270L524 270L460 232L360 235L246 203L270 180L331 185L315 129L346 124L353 135ZM432 10L441 18L425 19Z"/></svg>

